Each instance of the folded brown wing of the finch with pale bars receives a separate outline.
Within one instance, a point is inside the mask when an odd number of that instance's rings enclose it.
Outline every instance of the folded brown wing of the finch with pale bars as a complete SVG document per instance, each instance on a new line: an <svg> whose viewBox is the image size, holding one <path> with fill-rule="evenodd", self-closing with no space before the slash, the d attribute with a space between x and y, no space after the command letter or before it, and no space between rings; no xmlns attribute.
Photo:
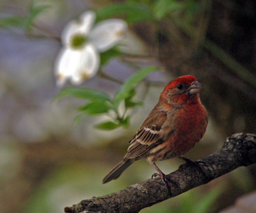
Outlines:
<svg viewBox="0 0 256 213"><path fill-rule="evenodd" d="M152 111L154 112L154 111ZM128 153L125 159L137 158L148 150L163 142L161 128L166 119L166 112L156 111L151 113L144 121L141 128L137 131L133 139L129 142ZM156 123L158 122L158 123ZM153 125L147 125L153 123Z"/></svg>

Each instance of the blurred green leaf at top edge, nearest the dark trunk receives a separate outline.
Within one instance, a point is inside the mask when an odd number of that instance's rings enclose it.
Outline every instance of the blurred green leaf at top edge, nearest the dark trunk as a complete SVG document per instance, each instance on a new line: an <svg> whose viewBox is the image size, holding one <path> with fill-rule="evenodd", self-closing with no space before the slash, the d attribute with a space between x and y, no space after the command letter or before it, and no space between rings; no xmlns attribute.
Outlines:
<svg viewBox="0 0 256 213"><path fill-rule="evenodd" d="M183 7L183 2L178 2L176 0L158 0L154 4L153 14L156 19L161 19L170 11L178 10Z"/></svg>

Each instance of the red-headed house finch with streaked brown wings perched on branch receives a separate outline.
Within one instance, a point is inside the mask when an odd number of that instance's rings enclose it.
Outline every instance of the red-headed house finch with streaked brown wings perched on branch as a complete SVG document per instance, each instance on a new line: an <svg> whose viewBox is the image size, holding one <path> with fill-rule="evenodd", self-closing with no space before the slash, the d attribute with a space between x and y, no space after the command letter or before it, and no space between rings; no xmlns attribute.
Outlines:
<svg viewBox="0 0 256 213"><path fill-rule="evenodd" d="M187 163L193 161L184 155L205 134L208 123L207 111L201 104L199 93L204 87L192 75L181 76L171 81L163 90L159 101L129 142L124 159L103 179L107 183L117 179L134 161L147 158L169 187L168 178L155 165L179 157Z"/></svg>

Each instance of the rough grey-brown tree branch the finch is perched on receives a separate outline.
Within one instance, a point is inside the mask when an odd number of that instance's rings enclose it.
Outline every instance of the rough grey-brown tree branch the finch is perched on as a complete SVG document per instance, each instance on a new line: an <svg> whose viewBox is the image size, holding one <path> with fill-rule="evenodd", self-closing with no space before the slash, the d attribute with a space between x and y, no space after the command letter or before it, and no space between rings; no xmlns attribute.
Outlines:
<svg viewBox="0 0 256 213"><path fill-rule="evenodd" d="M219 151L198 160L197 163L204 169L208 178L205 178L199 169L186 164L181 165L178 170L168 175L169 179L178 184L178 186L171 185L172 194L169 193L160 178L154 178L136 183L112 194L82 200L72 207L66 207L64 211L65 213L83 211L84 213L137 213L143 208L206 184L239 166L249 166L256 163L256 135L234 134L226 139Z"/></svg>

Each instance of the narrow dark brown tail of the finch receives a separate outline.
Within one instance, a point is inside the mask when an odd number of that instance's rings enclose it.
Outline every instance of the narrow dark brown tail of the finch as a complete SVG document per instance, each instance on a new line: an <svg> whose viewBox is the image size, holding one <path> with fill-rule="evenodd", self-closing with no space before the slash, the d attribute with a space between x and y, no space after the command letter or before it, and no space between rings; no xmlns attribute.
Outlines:
<svg viewBox="0 0 256 213"><path fill-rule="evenodd" d="M111 180L117 179L133 162L134 159L123 159L123 161L119 162L119 164L109 172L109 174L103 179L102 183L105 184Z"/></svg>

